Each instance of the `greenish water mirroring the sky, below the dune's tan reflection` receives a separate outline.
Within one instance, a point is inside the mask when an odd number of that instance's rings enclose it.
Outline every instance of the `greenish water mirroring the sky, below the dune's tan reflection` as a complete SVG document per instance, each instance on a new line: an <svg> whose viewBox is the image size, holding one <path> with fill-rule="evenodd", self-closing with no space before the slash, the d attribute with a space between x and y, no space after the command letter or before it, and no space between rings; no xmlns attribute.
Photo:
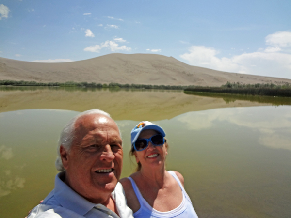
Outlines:
<svg viewBox="0 0 291 218"><path fill-rule="evenodd" d="M165 129L167 169L184 175L200 218L291 217L290 111L290 106L210 109L150 121ZM24 217L53 188L57 140L77 113L0 113L0 217ZM117 121L124 141L122 177L134 169L127 154L137 123ZM22 207L16 211L15 204Z"/></svg>

